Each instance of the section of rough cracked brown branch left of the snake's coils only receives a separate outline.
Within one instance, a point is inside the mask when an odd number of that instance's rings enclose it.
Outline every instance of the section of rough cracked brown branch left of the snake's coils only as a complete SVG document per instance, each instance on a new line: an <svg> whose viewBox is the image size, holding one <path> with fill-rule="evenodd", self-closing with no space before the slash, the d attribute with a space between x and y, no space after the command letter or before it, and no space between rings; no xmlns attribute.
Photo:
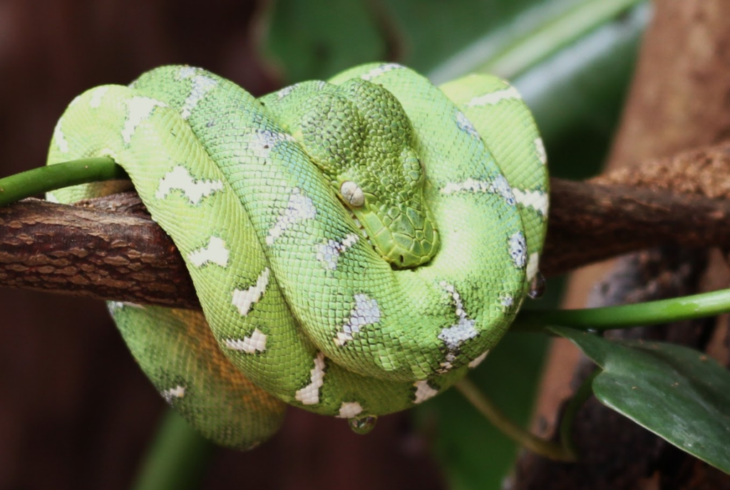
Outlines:
<svg viewBox="0 0 730 490"><path fill-rule="evenodd" d="M197 303L177 249L146 214L35 200L0 209L0 284L161 306Z"/></svg>

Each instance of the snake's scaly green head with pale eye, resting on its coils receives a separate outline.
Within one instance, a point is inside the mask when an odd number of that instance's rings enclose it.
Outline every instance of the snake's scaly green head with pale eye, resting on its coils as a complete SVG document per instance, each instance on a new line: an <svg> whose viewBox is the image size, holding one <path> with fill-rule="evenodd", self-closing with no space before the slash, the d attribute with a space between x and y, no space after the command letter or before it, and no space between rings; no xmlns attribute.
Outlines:
<svg viewBox="0 0 730 490"><path fill-rule="evenodd" d="M439 235L424 198L425 168L413 129L392 93L363 79L313 85L289 125L393 268L423 265Z"/></svg>

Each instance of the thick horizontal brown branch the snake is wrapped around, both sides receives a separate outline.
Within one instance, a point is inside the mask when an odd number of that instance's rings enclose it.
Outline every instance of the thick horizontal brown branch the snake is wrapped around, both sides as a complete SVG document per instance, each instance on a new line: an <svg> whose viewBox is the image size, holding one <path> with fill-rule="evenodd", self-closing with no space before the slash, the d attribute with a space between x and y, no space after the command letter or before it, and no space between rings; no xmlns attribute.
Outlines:
<svg viewBox="0 0 730 490"><path fill-rule="evenodd" d="M551 179L545 276L659 244L730 246L730 142L639 168L586 182ZM128 193L77 206L26 199L1 208L0 282L199 308L174 244Z"/></svg>

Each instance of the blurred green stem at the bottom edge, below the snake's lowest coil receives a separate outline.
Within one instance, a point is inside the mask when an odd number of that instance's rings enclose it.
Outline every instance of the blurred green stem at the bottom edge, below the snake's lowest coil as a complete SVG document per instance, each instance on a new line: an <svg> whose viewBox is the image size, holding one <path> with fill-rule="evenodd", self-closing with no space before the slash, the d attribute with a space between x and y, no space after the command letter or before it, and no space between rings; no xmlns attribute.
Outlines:
<svg viewBox="0 0 730 490"><path fill-rule="evenodd" d="M215 446L169 410L147 450L133 490L199 489Z"/></svg>

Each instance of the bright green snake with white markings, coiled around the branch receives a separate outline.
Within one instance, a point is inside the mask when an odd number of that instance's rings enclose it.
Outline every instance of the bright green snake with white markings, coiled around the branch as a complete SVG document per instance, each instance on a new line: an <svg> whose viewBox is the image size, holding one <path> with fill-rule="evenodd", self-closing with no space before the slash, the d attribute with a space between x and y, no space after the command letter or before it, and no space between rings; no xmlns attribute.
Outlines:
<svg viewBox="0 0 730 490"><path fill-rule="evenodd" d="M96 156L131 177L203 311L112 302L115 323L223 446L266 440L286 405L365 430L429 400L485 358L537 275L545 148L496 77L437 88L374 63L257 99L164 66L72 101L48 163Z"/></svg>

